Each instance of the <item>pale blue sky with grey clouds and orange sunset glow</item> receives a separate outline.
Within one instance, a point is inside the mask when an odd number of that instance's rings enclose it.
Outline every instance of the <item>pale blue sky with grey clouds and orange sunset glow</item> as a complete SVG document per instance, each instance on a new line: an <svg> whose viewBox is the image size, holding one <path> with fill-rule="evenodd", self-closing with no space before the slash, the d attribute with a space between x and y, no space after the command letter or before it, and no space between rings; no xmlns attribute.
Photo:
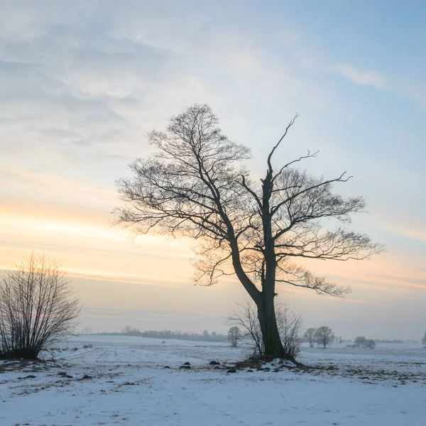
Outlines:
<svg viewBox="0 0 426 426"><path fill-rule="evenodd" d="M191 280L192 242L111 226L115 181L150 155L147 133L207 103L249 146L363 195L356 231L386 246L362 262L315 262L345 300L278 288L305 327L420 339L426 329L424 1L0 0L0 269L32 251L60 261L80 328L225 332L234 278Z"/></svg>

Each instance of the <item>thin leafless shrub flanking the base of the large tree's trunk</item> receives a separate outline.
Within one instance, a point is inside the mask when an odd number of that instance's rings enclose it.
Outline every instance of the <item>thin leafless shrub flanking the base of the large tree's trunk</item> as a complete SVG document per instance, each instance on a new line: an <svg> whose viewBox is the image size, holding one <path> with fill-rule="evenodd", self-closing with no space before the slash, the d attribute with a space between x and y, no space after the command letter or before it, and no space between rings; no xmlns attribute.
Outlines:
<svg viewBox="0 0 426 426"><path fill-rule="evenodd" d="M265 349L256 306L249 300L237 305L239 309L228 317L228 322L239 325L244 330L242 335L252 347L253 354L263 355ZM300 353L302 318L284 302L275 304L275 317L286 354L294 359Z"/></svg>

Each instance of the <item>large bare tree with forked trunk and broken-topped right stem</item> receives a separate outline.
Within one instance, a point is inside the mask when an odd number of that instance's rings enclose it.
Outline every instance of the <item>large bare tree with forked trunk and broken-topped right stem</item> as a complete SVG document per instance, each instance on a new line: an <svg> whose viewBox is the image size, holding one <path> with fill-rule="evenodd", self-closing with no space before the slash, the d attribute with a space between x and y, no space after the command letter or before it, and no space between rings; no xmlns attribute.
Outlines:
<svg viewBox="0 0 426 426"><path fill-rule="evenodd" d="M271 148L266 172L257 181L240 165L250 157L249 148L230 141L212 110L196 104L171 117L165 132L149 133L155 155L134 160L132 177L117 181L124 207L114 211L116 223L132 226L136 234L197 240L196 283L212 285L222 275L236 274L256 303L268 357L288 355L275 317L277 283L338 297L349 292L293 261L361 260L382 250L368 236L344 227L351 213L365 207L361 197L333 192L334 184L349 180L346 172L325 179L294 168L317 155L309 151L273 164L294 122ZM340 226L324 229L330 223L324 219L337 219Z"/></svg>

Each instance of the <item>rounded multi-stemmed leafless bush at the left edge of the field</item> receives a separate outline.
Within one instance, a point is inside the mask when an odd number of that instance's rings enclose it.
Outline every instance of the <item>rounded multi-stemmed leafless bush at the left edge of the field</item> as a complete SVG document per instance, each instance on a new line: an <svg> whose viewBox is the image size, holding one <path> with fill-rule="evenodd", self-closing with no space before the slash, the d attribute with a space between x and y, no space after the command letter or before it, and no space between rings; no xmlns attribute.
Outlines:
<svg viewBox="0 0 426 426"><path fill-rule="evenodd" d="M58 263L31 255L0 285L0 358L35 359L72 332L80 302Z"/></svg>

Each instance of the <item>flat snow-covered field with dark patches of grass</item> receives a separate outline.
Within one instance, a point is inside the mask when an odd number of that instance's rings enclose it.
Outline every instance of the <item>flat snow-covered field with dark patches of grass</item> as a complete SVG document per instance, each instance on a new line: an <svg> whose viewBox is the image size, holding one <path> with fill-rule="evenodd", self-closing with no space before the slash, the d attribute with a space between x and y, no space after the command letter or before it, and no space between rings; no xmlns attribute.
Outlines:
<svg viewBox="0 0 426 426"><path fill-rule="evenodd" d="M278 372L226 373L246 349L204 342L84 336L54 354L0 361L1 426L426 425L420 345L304 348L315 368Z"/></svg>

